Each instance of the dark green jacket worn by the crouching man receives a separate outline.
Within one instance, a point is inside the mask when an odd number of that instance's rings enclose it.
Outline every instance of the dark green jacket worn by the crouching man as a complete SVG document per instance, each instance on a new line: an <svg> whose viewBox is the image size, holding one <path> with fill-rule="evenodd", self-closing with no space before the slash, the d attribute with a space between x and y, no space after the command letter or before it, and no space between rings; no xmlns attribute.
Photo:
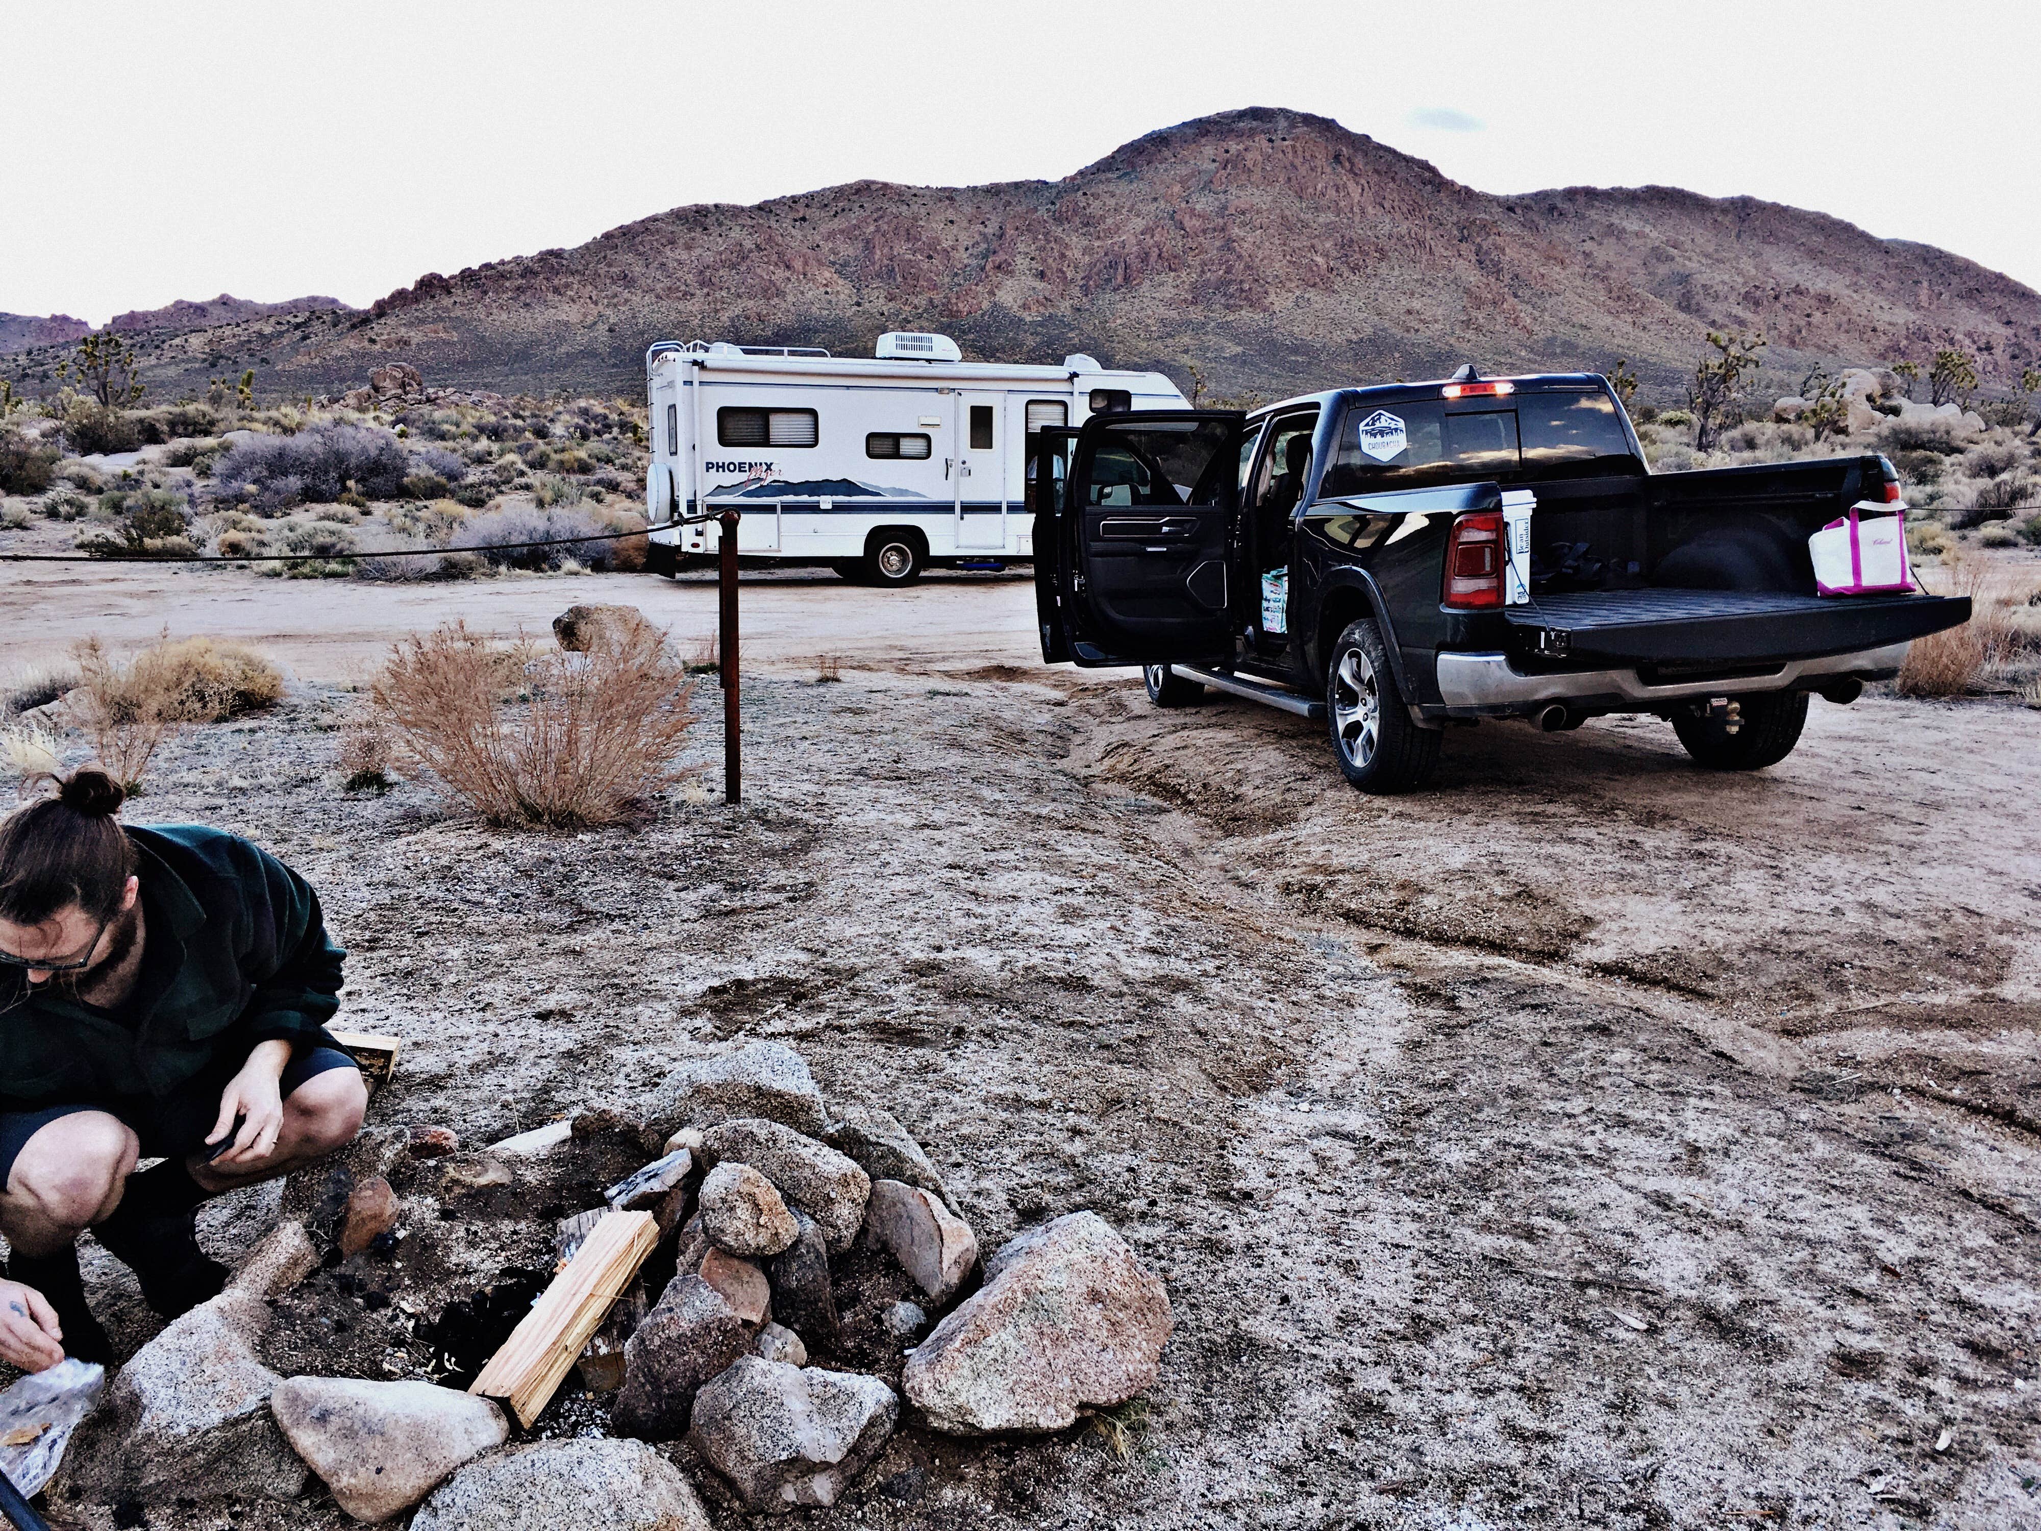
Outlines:
<svg viewBox="0 0 2041 1531"><path fill-rule="evenodd" d="M314 1045L341 961L310 884L239 835L129 829L147 919L133 1025L0 972L0 1110L165 1096L255 1043Z"/></svg>

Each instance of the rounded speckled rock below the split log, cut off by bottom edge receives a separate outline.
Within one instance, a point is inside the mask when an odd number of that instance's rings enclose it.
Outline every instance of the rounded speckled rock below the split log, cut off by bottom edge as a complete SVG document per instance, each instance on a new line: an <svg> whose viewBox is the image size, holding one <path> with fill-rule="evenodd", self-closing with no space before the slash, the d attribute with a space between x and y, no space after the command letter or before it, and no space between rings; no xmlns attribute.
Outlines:
<svg viewBox="0 0 2041 1531"><path fill-rule="evenodd" d="M410 1531L712 1531L680 1468L643 1441L512 1445L435 1492Z"/></svg>

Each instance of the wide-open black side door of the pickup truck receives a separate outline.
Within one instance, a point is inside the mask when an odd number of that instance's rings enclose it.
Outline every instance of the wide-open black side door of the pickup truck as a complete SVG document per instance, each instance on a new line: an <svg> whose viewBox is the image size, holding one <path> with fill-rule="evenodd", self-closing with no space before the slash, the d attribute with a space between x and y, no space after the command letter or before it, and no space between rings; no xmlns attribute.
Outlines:
<svg viewBox="0 0 2041 1531"><path fill-rule="evenodd" d="M1141 410L1039 433L1043 659L1092 668L1231 657L1243 418Z"/></svg>

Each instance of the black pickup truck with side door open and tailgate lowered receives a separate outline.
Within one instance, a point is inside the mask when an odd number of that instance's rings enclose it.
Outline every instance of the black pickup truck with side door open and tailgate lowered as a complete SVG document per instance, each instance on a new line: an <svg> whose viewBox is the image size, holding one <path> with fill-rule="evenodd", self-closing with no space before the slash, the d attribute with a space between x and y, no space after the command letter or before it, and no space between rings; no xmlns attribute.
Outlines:
<svg viewBox="0 0 2041 1531"><path fill-rule="evenodd" d="M1141 665L1157 706L1216 688L1323 719L1367 792L1496 717L1651 712L1706 768L1774 766L1810 692L1851 702L1970 616L1816 594L1808 537L1900 498L1884 457L1651 474L1594 374L1461 367L1041 437L1043 659Z"/></svg>

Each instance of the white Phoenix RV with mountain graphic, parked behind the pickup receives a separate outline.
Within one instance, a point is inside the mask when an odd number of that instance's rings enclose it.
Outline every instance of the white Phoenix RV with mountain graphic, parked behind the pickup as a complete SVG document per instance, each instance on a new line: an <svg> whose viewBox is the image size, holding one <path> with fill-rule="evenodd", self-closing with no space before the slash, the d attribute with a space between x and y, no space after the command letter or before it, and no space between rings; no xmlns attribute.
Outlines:
<svg viewBox="0 0 2041 1531"><path fill-rule="evenodd" d="M1033 559L1031 437L1108 410L1182 408L1159 372L963 361L947 335L882 335L874 357L680 345L645 353L655 527L737 506L745 559L827 563L847 580L914 582L929 565ZM718 549L716 523L651 535L674 574Z"/></svg>

